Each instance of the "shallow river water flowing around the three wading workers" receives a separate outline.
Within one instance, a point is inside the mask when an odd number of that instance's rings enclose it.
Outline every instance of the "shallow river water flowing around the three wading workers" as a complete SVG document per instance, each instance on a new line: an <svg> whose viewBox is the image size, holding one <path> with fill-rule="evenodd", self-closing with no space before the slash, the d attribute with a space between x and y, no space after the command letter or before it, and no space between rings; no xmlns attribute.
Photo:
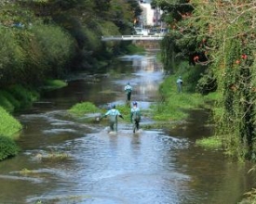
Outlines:
<svg viewBox="0 0 256 204"><path fill-rule="evenodd" d="M248 164L195 147L196 138L211 134L207 111L192 111L190 120L170 123L169 130L139 134L119 120L117 135L107 134L104 122L87 123L67 112L82 101L123 104L127 82L143 112L157 101L163 77L155 53L122 57L105 74L74 76L20 113L22 150L0 162L0 203L237 203L256 180ZM141 124L150 122L143 117ZM67 157L47 159L50 153Z"/></svg>

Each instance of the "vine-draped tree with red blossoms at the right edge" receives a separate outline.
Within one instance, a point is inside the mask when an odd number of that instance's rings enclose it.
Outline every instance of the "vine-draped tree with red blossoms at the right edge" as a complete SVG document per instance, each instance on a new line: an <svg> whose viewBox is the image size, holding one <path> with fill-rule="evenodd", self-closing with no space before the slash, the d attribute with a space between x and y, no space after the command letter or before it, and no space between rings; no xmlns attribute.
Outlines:
<svg viewBox="0 0 256 204"><path fill-rule="evenodd" d="M251 1L195 2L196 16L207 21L210 69L222 93L218 133L237 157L255 160L255 18ZM202 9L204 15L202 15Z"/></svg>

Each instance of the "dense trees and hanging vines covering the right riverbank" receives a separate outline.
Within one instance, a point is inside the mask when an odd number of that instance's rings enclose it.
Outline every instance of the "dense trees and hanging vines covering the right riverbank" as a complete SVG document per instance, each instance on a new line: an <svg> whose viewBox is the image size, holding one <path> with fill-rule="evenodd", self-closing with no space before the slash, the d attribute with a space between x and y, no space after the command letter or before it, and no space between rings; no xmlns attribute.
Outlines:
<svg viewBox="0 0 256 204"><path fill-rule="evenodd" d="M152 5L164 10L168 24L162 43L165 68L171 73L183 69L185 81L195 84L188 91L218 93L216 134L231 155L255 160L255 3L154 0Z"/></svg>

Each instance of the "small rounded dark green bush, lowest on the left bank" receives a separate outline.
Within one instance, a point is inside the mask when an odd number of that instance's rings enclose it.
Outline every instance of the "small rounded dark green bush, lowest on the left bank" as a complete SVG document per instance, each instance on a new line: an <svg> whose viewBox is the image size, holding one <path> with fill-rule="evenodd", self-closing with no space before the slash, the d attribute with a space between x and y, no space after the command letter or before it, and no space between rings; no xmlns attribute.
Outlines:
<svg viewBox="0 0 256 204"><path fill-rule="evenodd" d="M0 160L16 156L19 150L14 140L6 136L0 136Z"/></svg>

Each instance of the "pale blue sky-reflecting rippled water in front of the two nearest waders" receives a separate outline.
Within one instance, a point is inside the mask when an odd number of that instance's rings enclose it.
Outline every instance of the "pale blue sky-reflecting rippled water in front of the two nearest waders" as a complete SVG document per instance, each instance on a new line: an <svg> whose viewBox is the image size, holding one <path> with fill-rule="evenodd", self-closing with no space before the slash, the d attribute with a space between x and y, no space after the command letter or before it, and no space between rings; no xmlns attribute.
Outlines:
<svg viewBox="0 0 256 204"><path fill-rule="evenodd" d="M87 134L72 147L63 145L71 147L74 165L60 170L63 183L59 179L58 190L44 198L56 203L178 203L190 177L176 172L171 153L186 143L157 131Z"/></svg>

